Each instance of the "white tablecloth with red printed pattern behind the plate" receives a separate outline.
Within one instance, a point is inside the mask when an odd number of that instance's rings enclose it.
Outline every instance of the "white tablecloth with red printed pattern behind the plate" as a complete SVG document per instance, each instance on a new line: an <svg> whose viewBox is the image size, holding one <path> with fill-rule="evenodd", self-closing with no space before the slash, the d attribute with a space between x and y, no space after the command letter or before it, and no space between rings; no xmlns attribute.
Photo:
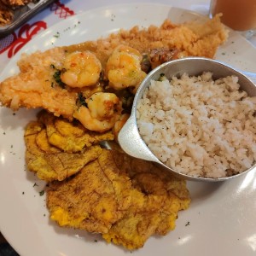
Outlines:
<svg viewBox="0 0 256 256"><path fill-rule="evenodd" d="M79 0L57 0L49 4L43 11L35 15L26 24L20 26L15 32L5 38L0 39L0 73L7 62L20 50L27 42L29 42L38 33L44 31L49 26L56 22L67 19L69 16L77 15L85 10L95 9L102 6L108 6L120 3L162 3L172 4L178 8L186 8L193 10L202 15L208 14L209 0L94 0L94 1L79 1ZM175 3L175 4L173 4ZM250 39L251 43L256 46L256 36ZM1 230L0 230L1 231ZM1 247L4 245L4 248ZM2 250L2 251L1 251ZM9 247L7 241L0 233L0 255L17 255L15 251Z"/></svg>

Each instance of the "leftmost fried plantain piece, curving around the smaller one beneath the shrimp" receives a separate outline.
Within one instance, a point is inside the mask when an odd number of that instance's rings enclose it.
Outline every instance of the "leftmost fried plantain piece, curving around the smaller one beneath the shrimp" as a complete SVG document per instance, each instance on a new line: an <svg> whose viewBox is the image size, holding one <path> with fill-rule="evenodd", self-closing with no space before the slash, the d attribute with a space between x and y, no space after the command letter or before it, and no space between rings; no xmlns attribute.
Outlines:
<svg viewBox="0 0 256 256"><path fill-rule="evenodd" d="M79 172L102 152L98 145L69 153L49 144L44 124L32 121L26 126L26 166L45 181L63 180Z"/></svg>

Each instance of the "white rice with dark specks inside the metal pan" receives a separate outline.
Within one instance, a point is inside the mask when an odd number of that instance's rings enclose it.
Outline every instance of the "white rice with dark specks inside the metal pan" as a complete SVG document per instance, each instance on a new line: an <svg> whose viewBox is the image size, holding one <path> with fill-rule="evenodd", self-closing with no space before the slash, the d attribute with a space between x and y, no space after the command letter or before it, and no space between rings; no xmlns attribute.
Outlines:
<svg viewBox="0 0 256 256"><path fill-rule="evenodd" d="M137 106L148 148L166 166L195 177L227 177L256 160L256 97L238 78L183 74L151 81Z"/></svg>

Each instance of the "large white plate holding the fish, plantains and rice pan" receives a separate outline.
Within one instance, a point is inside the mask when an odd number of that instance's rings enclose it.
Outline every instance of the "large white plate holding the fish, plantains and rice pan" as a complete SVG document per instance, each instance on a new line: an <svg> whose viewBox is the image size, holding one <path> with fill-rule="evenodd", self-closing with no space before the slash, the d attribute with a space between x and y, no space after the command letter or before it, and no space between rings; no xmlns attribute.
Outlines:
<svg viewBox="0 0 256 256"><path fill-rule="evenodd" d="M159 4L125 4L90 10L63 20L42 32L9 62L0 80L17 73L21 52L76 44L106 36L120 27L160 25L199 19L189 11ZM59 38L55 38L56 33ZM216 58L234 67L256 72L256 49L235 32L218 50ZM36 111L13 114L0 109L0 230L20 255L130 255L122 247L107 244L101 236L68 230L49 221L44 182L26 172L23 129ZM153 236L132 255L255 255L256 172L225 183L188 182L192 202L180 212L177 228L167 236Z"/></svg>

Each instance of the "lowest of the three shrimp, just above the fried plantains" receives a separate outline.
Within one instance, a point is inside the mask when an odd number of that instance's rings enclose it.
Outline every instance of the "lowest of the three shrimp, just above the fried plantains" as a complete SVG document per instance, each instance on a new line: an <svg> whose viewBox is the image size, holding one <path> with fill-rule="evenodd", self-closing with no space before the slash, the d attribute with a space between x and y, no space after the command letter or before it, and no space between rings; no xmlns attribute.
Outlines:
<svg viewBox="0 0 256 256"><path fill-rule="evenodd" d="M73 117L90 131L104 132L113 128L122 111L119 97L113 93L97 92L85 100L87 107L81 106Z"/></svg>

